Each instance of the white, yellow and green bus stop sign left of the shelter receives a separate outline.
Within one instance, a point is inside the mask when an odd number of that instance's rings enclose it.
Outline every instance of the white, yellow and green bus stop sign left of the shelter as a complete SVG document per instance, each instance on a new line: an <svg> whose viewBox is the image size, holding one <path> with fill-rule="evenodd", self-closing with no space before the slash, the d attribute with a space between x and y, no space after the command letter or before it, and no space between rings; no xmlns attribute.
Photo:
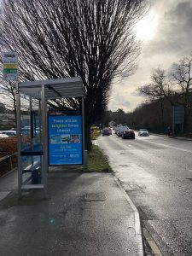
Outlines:
<svg viewBox="0 0 192 256"><path fill-rule="evenodd" d="M3 80L18 79L18 54L14 51L3 53Z"/></svg>

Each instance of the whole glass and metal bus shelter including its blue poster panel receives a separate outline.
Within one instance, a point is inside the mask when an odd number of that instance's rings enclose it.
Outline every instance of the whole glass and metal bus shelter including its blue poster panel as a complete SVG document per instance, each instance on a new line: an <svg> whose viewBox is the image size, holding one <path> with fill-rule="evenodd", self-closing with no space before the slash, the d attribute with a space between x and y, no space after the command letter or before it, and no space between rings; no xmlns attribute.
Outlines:
<svg viewBox="0 0 192 256"><path fill-rule="evenodd" d="M48 101L79 98L81 113L48 114ZM44 189L49 165L84 168L84 89L80 78L20 82L16 88L19 195ZM79 153L80 152L80 153Z"/></svg>

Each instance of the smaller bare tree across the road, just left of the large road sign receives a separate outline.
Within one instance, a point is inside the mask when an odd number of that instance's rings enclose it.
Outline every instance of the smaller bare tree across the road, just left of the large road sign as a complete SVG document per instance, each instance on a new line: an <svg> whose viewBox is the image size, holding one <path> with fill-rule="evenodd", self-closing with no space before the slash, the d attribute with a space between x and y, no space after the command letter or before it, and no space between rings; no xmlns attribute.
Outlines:
<svg viewBox="0 0 192 256"><path fill-rule="evenodd" d="M166 80L166 71L160 68L154 69L151 77L152 83L138 87L140 94L147 96L151 102L160 102L161 120L164 125L164 101L169 98L172 101L171 90Z"/></svg>

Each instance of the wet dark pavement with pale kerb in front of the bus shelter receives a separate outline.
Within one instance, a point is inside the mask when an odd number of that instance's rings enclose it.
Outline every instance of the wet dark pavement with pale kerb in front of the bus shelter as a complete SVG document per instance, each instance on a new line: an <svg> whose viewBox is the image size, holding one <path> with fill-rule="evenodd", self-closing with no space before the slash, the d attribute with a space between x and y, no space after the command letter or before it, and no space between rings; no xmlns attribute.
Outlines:
<svg viewBox="0 0 192 256"><path fill-rule="evenodd" d="M113 173L48 174L17 196L17 172L0 178L1 256L142 256L137 208Z"/></svg>

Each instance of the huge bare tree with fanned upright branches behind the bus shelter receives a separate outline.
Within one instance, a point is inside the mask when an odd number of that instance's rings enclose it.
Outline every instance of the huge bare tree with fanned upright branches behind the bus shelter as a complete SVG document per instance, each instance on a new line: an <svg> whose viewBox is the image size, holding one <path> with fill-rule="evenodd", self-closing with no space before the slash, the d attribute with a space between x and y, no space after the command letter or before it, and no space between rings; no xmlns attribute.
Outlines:
<svg viewBox="0 0 192 256"><path fill-rule="evenodd" d="M1 49L18 52L20 80L80 76L85 126L107 108L114 78L131 73L139 45L133 27L144 0L3 0ZM79 99L49 102L79 109Z"/></svg>

